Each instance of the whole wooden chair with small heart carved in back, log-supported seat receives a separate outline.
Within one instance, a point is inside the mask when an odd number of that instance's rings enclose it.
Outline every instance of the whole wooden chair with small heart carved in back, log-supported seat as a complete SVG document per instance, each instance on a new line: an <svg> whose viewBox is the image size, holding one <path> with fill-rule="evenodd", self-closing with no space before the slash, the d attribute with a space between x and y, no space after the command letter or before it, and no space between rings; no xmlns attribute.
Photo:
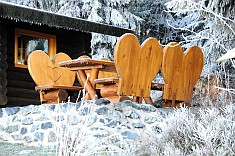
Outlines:
<svg viewBox="0 0 235 156"><path fill-rule="evenodd" d="M58 53L51 60L49 56L40 50L32 52L28 57L28 70L36 83L35 90L40 92L42 103L58 103L76 99L74 91L82 90L82 87L73 86L75 72L68 68L59 67L59 62L71 60L65 53ZM74 95L75 94L75 95Z"/></svg>

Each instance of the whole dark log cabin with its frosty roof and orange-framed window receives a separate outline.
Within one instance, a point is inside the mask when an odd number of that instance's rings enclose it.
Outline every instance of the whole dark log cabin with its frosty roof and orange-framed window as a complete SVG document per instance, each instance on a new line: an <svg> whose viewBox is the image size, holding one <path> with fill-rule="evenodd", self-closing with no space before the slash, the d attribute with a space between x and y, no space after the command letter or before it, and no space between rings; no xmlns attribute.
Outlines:
<svg viewBox="0 0 235 156"><path fill-rule="evenodd" d="M0 107L40 104L27 69L27 56L43 50L72 59L91 52L92 33L121 36L129 29L0 2ZM40 58L39 58L40 59Z"/></svg>

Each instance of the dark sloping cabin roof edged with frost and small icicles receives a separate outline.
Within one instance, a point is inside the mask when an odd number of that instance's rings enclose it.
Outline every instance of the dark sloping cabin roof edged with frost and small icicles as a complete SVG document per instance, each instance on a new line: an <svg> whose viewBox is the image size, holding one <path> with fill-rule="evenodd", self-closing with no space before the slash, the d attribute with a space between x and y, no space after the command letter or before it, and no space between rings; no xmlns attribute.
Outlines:
<svg viewBox="0 0 235 156"><path fill-rule="evenodd" d="M95 23L81 18L69 17L3 1L0 1L0 17L39 25L44 24L50 27L96 32L112 36L134 33L130 29Z"/></svg>

